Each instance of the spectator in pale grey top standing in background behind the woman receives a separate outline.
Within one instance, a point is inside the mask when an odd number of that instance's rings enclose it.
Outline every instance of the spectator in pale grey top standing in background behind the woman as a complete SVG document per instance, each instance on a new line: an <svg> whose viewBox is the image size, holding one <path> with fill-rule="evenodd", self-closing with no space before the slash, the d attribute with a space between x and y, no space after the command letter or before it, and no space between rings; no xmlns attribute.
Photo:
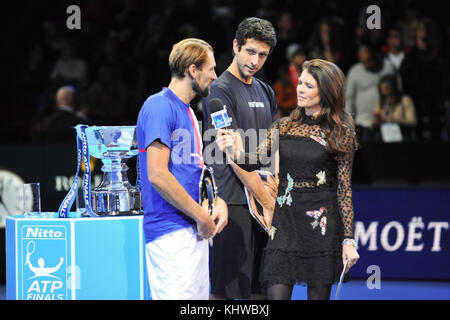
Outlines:
<svg viewBox="0 0 450 320"><path fill-rule="evenodd" d="M374 140L372 117L379 98L379 80L386 74L392 74L393 69L367 45L360 45L358 60L347 75L346 109L355 118L356 133L363 144Z"/></svg>

